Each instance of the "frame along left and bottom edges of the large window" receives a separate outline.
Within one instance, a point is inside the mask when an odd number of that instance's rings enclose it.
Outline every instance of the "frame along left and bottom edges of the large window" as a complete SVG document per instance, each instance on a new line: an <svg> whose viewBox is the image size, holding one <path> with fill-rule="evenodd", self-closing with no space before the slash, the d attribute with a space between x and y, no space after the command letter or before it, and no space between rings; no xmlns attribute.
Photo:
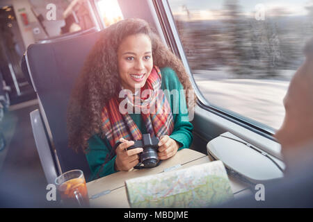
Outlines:
<svg viewBox="0 0 313 222"><path fill-rule="evenodd" d="M251 130L254 133L262 135L267 139L271 139L274 142L278 142L273 135L275 134L275 129L271 128L271 126L267 126L264 123L260 123L250 119L249 117L245 117L241 114L233 112L232 110L227 110L225 108L218 107L216 105L210 104L207 99L204 98L198 85L195 83L193 75L191 74L191 69L188 65L188 60L184 53L184 48L182 42L180 40L179 34L177 33L177 27L175 25L175 21L172 17L172 11L170 9L170 5L168 0L152 0L154 4L154 8L157 12L157 16L159 18L159 22L166 38L166 42L170 49L172 49L173 53L177 57L182 60L182 63L186 69L187 74L190 77L191 84L193 85L193 89L195 89L195 94L198 96L197 105L209 112L212 112L219 117L232 121L233 123L238 124L248 130Z"/></svg>

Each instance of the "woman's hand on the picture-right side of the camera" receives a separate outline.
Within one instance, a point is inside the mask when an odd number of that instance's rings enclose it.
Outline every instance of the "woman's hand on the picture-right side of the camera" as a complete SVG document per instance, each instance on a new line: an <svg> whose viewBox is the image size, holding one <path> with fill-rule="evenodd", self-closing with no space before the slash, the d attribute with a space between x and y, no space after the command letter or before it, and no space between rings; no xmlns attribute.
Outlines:
<svg viewBox="0 0 313 222"><path fill-rule="evenodd" d="M178 151L179 144L168 135L164 135L161 137L159 141L159 152L158 156L160 160L166 160L173 155L175 155Z"/></svg>

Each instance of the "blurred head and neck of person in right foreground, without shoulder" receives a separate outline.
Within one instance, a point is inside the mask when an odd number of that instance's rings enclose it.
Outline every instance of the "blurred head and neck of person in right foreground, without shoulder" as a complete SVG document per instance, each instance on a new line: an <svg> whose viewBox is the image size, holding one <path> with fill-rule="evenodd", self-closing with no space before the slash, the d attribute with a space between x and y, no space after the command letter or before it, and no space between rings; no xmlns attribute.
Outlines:
<svg viewBox="0 0 313 222"><path fill-rule="evenodd" d="M284 122L275 133L282 145L287 176L299 170L312 173L313 169L313 38L305 45L304 53L306 60L291 79L284 97Z"/></svg>

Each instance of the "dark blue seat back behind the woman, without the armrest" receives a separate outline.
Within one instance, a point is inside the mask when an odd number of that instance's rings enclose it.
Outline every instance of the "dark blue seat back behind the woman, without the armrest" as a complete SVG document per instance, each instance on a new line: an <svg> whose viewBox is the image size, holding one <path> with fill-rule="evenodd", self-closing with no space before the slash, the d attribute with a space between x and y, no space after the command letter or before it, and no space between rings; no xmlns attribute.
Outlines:
<svg viewBox="0 0 313 222"><path fill-rule="evenodd" d="M67 146L67 105L83 62L101 32L46 44L31 44L26 52L29 75L40 101L40 114L47 120L45 124L51 132L61 171L81 169L86 180L90 176L86 156Z"/></svg>

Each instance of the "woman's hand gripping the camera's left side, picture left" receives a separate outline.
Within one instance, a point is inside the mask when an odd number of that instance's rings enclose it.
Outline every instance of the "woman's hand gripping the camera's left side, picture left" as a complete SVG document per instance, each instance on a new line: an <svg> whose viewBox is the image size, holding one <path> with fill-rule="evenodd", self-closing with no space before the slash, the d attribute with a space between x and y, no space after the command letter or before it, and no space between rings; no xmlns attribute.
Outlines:
<svg viewBox="0 0 313 222"><path fill-rule="evenodd" d="M117 171L129 171L139 163L138 153L143 152L143 148L134 148L127 151L129 146L134 145L134 141L121 138L120 142L122 144L116 148L115 169Z"/></svg>

